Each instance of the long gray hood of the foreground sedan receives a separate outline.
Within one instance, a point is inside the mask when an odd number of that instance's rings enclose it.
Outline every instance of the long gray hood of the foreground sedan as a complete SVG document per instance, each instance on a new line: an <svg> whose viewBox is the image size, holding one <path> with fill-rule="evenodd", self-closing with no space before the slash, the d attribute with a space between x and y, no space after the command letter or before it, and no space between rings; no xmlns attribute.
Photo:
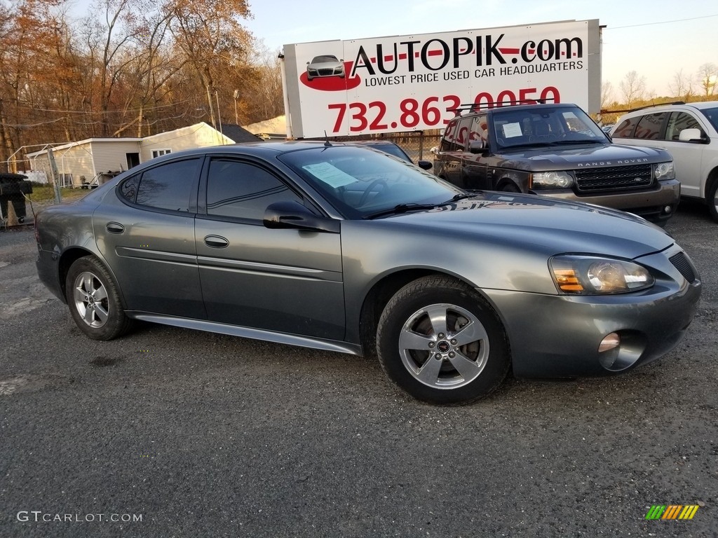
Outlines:
<svg viewBox="0 0 718 538"><path fill-rule="evenodd" d="M673 245L660 227L605 207L530 194L483 192L436 209L389 217L449 237L516 245L546 255L584 253L634 259Z"/></svg>

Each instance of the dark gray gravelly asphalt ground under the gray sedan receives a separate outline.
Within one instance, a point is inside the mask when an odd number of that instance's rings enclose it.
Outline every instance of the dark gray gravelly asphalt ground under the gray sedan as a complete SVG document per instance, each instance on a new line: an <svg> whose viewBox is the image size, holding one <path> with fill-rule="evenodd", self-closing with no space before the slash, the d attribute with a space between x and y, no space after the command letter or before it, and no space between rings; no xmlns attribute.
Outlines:
<svg viewBox="0 0 718 538"><path fill-rule="evenodd" d="M150 324L91 341L32 230L0 232L0 536L717 537L718 225L681 204L666 229L704 282L671 354L452 408L341 354Z"/></svg>

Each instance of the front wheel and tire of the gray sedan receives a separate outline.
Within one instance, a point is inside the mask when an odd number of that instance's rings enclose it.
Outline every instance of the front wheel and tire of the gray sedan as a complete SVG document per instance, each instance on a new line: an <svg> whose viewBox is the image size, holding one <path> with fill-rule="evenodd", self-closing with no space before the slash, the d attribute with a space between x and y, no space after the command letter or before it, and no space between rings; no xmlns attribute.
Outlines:
<svg viewBox="0 0 718 538"><path fill-rule="evenodd" d="M424 402L479 400L503 382L510 367L508 340L493 308L469 285L443 275L401 288L381 314L376 339L384 372Z"/></svg>

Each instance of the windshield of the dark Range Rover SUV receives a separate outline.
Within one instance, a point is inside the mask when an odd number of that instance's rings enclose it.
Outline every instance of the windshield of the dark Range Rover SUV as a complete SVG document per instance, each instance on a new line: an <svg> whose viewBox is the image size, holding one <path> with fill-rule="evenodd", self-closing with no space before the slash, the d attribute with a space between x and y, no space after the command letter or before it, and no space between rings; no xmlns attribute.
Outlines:
<svg viewBox="0 0 718 538"><path fill-rule="evenodd" d="M494 110L493 128L500 148L609 143L595 121L576 106Z"/></svg>

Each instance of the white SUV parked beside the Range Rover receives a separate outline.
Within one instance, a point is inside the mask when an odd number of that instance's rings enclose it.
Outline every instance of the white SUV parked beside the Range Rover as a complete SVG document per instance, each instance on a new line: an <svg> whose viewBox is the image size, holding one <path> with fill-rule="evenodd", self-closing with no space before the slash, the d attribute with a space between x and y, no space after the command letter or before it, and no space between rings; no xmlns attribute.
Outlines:
<svg viewBox="0 0 718 538"><path fill-rule="evenodd" d="M611 137L618 143L666 149L681 181L681 196L704 200L718 220L718 101L632 110L619 118Z"/></svg>

